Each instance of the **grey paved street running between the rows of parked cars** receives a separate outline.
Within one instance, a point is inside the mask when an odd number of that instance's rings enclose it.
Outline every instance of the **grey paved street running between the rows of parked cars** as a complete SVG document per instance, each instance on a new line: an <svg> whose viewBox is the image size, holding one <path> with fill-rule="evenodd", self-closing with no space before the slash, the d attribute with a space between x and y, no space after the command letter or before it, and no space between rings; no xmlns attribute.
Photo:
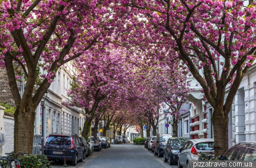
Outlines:
<svg viewBox="0 0 256 168"><path fill-rule="evenodd" d="M163 158L154 155L153 152L148 151L144 146L133 145L133 143L112 145L109 149L102 149L100 152L93 152L93 154L78 162L76 166L69 163L68 167L90 167L90 168L177 168L177 165L169 165L163 162ZM63 162L51 162L52 168L63 167Z"/></svg>

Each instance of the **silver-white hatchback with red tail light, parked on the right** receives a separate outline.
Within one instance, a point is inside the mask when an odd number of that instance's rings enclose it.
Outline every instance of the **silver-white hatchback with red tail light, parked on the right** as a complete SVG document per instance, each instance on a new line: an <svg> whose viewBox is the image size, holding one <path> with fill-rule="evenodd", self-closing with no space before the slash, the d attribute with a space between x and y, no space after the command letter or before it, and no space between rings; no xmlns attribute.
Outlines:
<svg viewBox="0 0 256 168"><path fill-rule="evenodd" d="M200 138L190 139L179 149L178 167L188 166L188 161L198 160L198 154L205 152L214 155L214 139Z"/></svg>

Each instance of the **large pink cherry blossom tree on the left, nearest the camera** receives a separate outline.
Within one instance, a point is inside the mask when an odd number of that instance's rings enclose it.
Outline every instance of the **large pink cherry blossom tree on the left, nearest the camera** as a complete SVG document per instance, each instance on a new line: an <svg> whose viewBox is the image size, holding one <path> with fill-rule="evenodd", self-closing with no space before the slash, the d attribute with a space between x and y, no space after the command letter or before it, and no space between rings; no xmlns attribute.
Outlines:
<svg viewBox="0 0 256 168"><path fill-rule="evenodd" d="M89 50L102 47L111 39L115 23L121 22L111 14L111 5L115 4L76 0L1 1L0 66L7 70L16 106L15 153L32 153L35 108L53 82L58 67L90 54ZM96 42L100 44L95 45ZM46 73L40 74L40 68ZM22 76L26 84L23 97L16 83Z"/></svg>

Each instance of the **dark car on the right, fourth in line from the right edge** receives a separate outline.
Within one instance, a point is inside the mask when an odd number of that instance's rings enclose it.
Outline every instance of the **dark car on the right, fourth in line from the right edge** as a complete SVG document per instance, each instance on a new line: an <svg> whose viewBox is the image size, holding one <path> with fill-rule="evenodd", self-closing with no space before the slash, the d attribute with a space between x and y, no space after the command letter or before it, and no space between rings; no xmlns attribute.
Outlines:
<svg viewBox="0 0 256 168"><path fill-rule="evenodd" d="M165 143L171 137L172 135L170 134L157 134L157 137L155 139L155 148L154 148L155 155L158 155L158 157L161 157L163 155L163 149L164 149Z"/></svg>

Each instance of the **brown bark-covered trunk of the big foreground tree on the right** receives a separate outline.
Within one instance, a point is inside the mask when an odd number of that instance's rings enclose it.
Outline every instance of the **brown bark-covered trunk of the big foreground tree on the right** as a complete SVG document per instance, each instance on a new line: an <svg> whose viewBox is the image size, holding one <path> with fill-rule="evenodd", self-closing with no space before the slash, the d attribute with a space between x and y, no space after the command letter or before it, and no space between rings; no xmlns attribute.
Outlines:
<svg viewBox="0 0 256 168"><path fill-rule="evenodd" d="M212 114L214 126L214 153L215 156L223 155L228 150L228 113L218 108Z"/></svg>

